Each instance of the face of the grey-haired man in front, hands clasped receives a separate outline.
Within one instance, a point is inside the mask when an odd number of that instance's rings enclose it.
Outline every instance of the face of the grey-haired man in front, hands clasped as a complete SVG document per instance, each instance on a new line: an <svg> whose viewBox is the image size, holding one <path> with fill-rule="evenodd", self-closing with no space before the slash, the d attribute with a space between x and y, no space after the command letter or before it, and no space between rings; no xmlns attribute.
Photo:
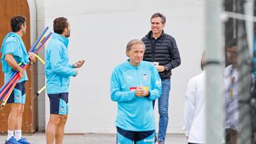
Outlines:
<svg viewBox="0 0 256 144"><path fill-rule="evenodd" d="M144 52L144 45L140 43L132 45L131 50L127 51L129 62L134 66L139 65L139 63L143 60Z"/></svg>

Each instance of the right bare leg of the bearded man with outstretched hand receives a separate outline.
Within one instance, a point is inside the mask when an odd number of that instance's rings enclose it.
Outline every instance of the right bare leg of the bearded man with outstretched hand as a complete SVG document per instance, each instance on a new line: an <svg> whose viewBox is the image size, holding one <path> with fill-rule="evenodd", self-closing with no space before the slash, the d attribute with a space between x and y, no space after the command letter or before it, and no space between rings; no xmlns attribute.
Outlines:
<svg viewBox="0 0 256 144"><path fill-rule="evenodd" d="M65 128L65 123L67 119L68 119L68 114L60 116L60 123L57 126L56 133L55 133L56 144L63 143L64 128Z"/></svg>

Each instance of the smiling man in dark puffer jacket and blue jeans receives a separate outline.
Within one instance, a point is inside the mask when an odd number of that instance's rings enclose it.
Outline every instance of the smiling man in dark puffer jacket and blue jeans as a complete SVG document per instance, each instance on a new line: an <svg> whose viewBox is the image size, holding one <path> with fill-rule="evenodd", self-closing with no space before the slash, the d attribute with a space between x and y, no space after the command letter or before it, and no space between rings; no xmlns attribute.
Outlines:
<svg viewBox="0 0 256 144"><path fill-rule="evenodd" d="M161 13L151 16L151 31L142 38L146 45L144 60L156 65L161 81L162 92L159 98L159 135L158 143L163 144L168 126L169 92L171 90L171 70L181 65L175 39L164 33L166 17ZM154 102L153 102L154 105Z"/></svg>

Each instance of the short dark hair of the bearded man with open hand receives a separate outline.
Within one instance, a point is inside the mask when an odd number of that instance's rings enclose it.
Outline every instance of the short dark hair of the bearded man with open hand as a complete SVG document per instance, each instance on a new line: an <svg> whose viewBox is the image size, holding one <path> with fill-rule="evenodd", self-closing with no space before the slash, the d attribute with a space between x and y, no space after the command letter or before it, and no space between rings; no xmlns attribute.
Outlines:
<svg viewBox="0 0 256 144"><path fill-rule="evenodd" d="M54 33L63 34L65 28L68 28L68 18L55 18L55 20L53 21Z"/></svg>

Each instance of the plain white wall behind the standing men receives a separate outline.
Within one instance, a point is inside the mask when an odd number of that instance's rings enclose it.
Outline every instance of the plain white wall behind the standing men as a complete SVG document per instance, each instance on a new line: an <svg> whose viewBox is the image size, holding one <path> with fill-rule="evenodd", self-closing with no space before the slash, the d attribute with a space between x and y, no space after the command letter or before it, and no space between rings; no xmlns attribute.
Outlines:
<svg viewBox="0 0 256 144"><path fill-rule="evenodd" d="M181 54L181 66L173 70L171 78L167 131L183 133L183 97L187 82L200 72L204 45L203 0L45 0L44 10L45 24L51 30L54 18L68 18L70 62L85 60L78 77L71 79L65 133L115 133L117 104L110 100L110 74L127 59L127 42L148 33L149 18L156 12L166 15L164 30L176 38ZM46 123L48 118L46 100Z"/></svg>

